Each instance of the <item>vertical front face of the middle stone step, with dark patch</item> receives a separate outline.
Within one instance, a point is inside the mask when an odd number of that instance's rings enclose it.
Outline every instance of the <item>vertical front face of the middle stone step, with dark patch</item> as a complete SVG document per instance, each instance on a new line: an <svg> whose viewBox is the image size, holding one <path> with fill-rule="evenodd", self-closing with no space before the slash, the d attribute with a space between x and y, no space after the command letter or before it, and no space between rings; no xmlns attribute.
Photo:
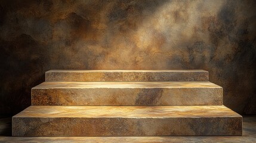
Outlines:
<svg viewBox="0 0 256 143"><path fill-rule="evenodd" d="M222 88L32 89L32 105L222 105Z"/></svg>

